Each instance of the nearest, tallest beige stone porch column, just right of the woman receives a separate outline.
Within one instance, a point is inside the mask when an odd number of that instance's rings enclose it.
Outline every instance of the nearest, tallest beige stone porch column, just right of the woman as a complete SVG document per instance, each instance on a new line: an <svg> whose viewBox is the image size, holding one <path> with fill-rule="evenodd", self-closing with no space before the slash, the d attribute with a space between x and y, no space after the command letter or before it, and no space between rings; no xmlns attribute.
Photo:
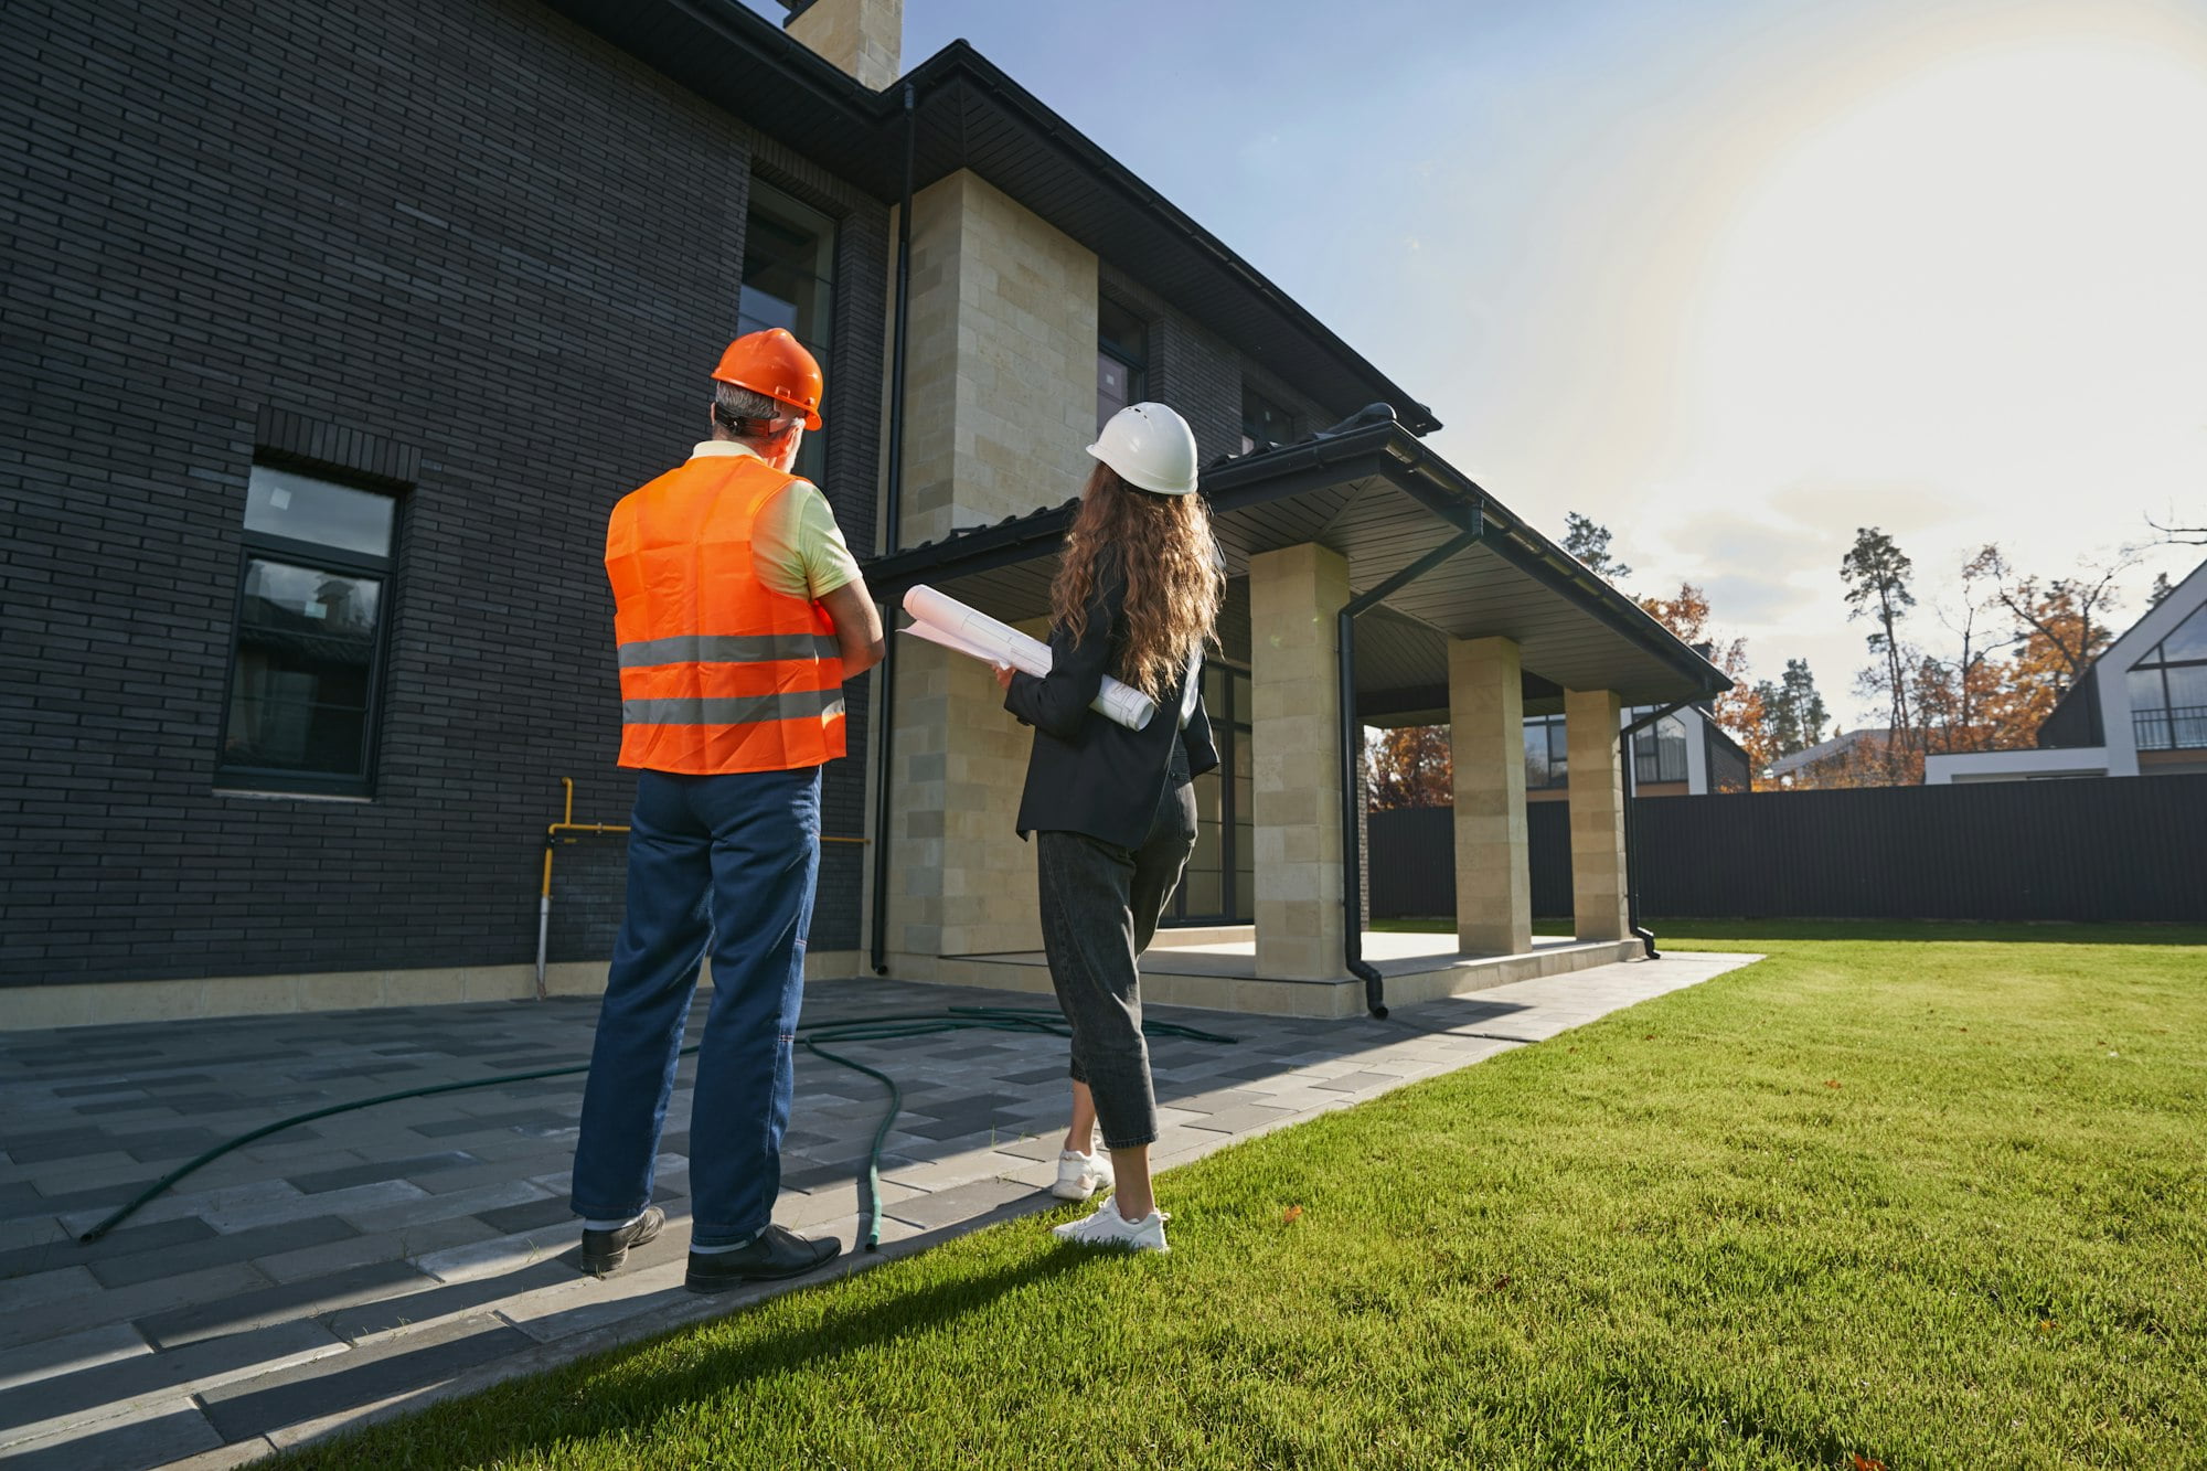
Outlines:
<svg viewBox="0 0 2207 1471"><path fill-rule="evenodd" d="M1348 563L1315 543L1249 559L1256 974L1342 970L1342 689Z"/></svg>

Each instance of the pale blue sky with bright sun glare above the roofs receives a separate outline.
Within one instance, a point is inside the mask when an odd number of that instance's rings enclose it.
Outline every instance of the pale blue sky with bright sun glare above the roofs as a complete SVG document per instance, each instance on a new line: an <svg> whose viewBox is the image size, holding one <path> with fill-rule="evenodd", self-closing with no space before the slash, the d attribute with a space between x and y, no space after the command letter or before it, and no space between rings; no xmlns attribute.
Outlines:
<svg viewBox="0 0 2207 1471"><path fill-rule="evenodd" d="M907 0L960 35L1847 727L1858 526L1938 649L1986 541L2207 521L2207 0Z"/></svg>

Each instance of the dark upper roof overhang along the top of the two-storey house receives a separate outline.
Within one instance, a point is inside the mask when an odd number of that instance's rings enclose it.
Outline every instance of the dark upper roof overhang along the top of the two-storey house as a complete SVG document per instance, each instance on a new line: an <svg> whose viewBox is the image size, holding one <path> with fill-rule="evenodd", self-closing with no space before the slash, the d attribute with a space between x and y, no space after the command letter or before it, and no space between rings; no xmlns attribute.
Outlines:
<svg viewBox="0 0 2207 1471"><path fill-rule="evenodd" d="M1254 265L958 40L876 93L739 0L547 0L640 62L874 199L971 168L1130 272L1238 351L1342 411L1384 400L1415 433L1441 422Z"/></svg>

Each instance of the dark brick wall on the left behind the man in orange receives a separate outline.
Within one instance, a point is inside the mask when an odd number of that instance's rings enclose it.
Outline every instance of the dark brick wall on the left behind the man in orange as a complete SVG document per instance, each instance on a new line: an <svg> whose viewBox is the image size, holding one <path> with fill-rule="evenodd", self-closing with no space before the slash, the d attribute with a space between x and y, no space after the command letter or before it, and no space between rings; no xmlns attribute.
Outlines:
<svg viewBox="0 0 2207 1471"><path fill-rule="evenodd" d="M7 0L0 983L530 959L558 777L627 815L605 512L704 433L753 170L843 219L863 554L876 201L530 0ZM373 802L214 791L245 479L298 433L411 479ZM841 762L828 830L863 802ZM563 848L554 959L609 952L618 879Z"/></svg>

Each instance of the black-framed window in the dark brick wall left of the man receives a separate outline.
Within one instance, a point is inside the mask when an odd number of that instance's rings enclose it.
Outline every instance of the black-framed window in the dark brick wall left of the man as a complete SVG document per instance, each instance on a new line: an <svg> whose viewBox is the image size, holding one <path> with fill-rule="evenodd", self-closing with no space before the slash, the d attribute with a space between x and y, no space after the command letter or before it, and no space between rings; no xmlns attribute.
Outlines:
<svg viewBox="0 0 2207 1471"><path fill-rule="evenodd" d="M369 795L397 499L256 464L221 786Z"/></svg>

